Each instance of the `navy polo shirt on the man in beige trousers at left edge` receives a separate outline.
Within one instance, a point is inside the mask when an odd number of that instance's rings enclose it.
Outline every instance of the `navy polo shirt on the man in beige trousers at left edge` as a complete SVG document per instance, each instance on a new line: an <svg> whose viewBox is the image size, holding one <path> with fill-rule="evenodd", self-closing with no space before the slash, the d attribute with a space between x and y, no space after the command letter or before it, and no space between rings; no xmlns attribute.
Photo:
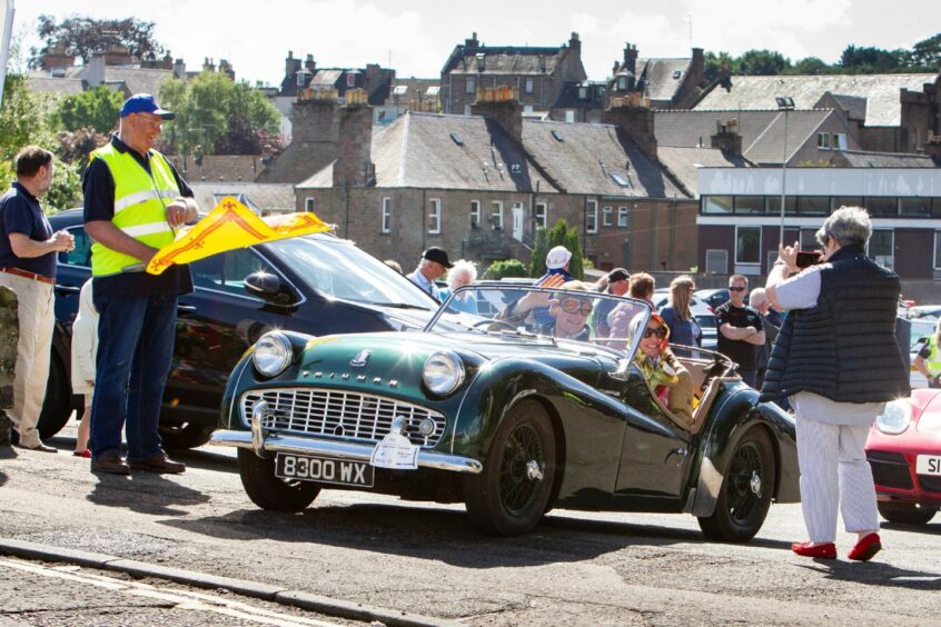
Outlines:
<svg viewBox="0 0 941 627"><path fill-rule="evenodd" d="M39 200L18 182L0 196L0 268L19 268L50 279L56 278L55 251L39 257L17 257L10 246L10 233L23 233L36 241L46 241L52 237L52 227Z"/></svg>

